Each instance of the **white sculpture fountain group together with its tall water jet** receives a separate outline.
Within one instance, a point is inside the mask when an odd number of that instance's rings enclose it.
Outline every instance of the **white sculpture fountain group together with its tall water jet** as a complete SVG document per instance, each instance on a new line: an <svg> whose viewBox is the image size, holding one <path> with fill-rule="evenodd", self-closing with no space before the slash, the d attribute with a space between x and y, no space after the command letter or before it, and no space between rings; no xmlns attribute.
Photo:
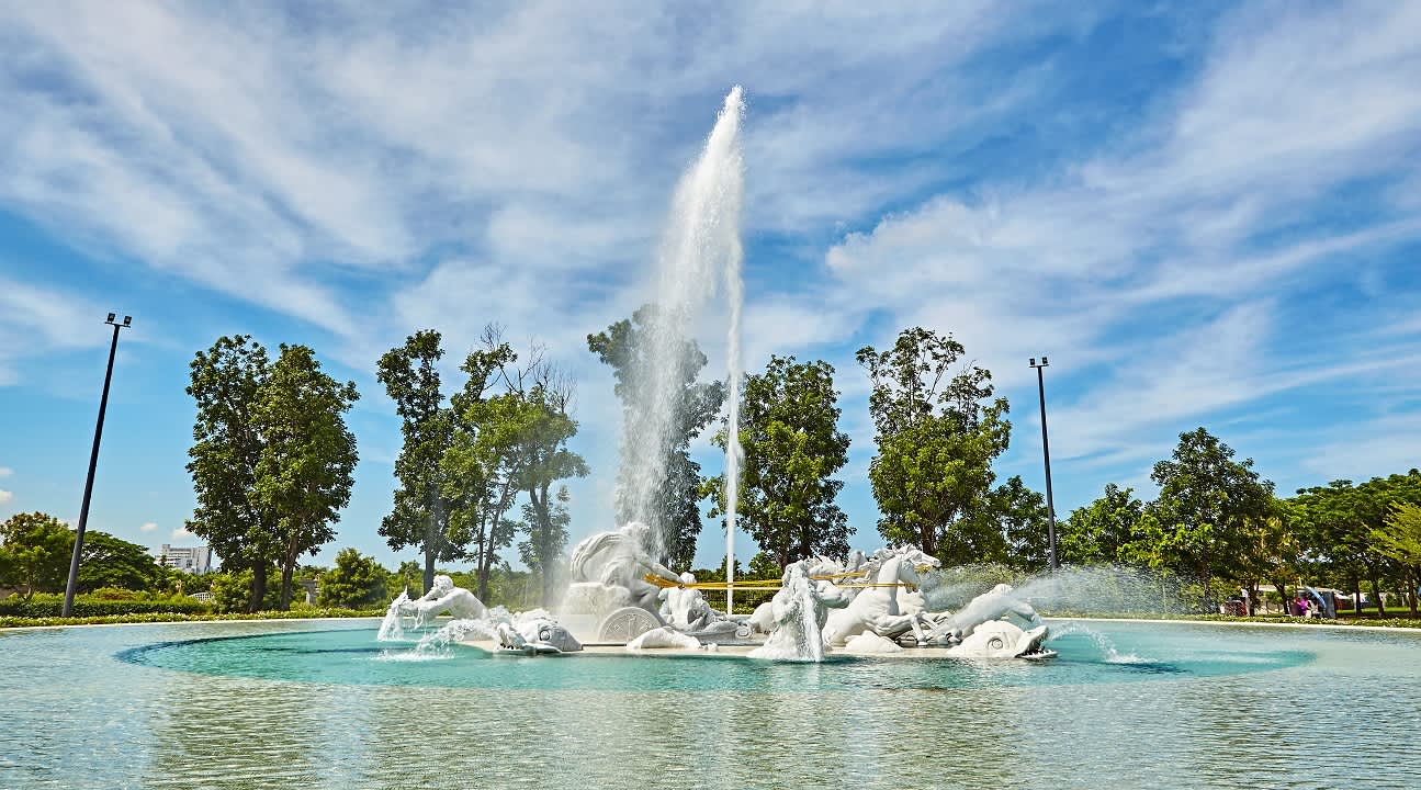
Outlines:
<svg viewBox="0 0 1421 790"><path fill-rule="evenodd" d="M396 598L381 627L381 639L404 638L402 618L415 628L448 612L433 642L496 644L499 651L526 655L567 654L614 646L632 651L701 649L740 652L750 658L823 661L833 649L858 654L897 654L907 642L919 648L948 648L959 656L1040 656L1046 629L1034 610L996 588L956 614L928 612L917 594L921 574L941 567L914 547L855 554L844 561L806 557L784 568L774 598L750 618L729 614L735 598L735 526L740 443L740 230L745 165L740 153L743 91L725 98L716 124L695 163L682 176L672 200L671 220L658 254L657 304L661 318L644 335L641 358L648 369L644 413L628 415L638 431L624 433L620 492L641 516L620 529L593 534L577 544L568 561L568 587L557 618L537 612L489 612L468 590L441 575L422 598ZM657 492L665 483L666 448L681 425L679 368L685 338L706 301L725 287L729 307L726 338L726 612L705 601L691 574L676 574L662 556L659 531L648 526L658 513ZM1023 615L1029 612L1029 615ZM1029 629L1002 619L1015 614ZM755 637L759 631L762 635Z"/></svg>

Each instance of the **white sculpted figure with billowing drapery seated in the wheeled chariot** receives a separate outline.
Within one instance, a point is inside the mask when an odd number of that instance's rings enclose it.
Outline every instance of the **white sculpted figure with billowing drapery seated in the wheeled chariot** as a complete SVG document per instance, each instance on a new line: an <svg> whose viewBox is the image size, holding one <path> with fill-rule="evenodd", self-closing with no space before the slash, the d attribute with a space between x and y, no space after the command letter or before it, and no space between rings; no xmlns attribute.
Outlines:
<svg viewBox="0 0 1421 790"><path fill-rule="evenodd" d="M568 560L570 585L564 610L594 608L605 614L612 608L631 605L657 614L661 587L644 577L651 574L668 581L679 577L648 554L649 536L651 527L631 521L578 543Z"/></svg>

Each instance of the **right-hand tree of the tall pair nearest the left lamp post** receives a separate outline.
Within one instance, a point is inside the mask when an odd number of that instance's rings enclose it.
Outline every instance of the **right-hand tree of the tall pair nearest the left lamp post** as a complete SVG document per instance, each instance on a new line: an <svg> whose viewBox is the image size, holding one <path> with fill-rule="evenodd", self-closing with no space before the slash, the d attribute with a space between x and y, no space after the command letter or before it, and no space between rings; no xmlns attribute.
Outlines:
<svg viewBox="0 0 1421 790"><path fill-rule="evenodd" d="M252 415L263 438L256 496L277 516L281 610L291 605L297 560L335 537L333 524L350 502L355 436L342 415L358 398L355 382L340 384L321 372L306 345L281 344L271 375L259 388Z"/></svg>

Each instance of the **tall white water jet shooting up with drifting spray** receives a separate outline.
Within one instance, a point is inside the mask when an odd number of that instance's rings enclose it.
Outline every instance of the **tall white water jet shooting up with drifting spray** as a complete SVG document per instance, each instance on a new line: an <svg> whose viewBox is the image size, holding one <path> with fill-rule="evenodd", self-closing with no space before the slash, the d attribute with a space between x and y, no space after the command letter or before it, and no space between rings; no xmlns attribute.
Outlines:
<svg viewBox="0 0 1421 790"><path fill-rule="evenodd" d="M666 458L682 435L682 381L688 365L688 338L705 305L725 284L729 301L726 384L726 577L735 571L735 520L740 480L740 206L745 198L745 159L740 153L740 119L745 115L739 85L725 97L710 136L693 165L681 176L671 205L666 234L657 256L657 320L649 323L642 348L645 368L644 412L635 429L625 432L622 492L630 510L645 521L658 521L658 492L666 483ZM657 533L659 540L659 530ZM664 546L654 546L658 554Z"/></svg>

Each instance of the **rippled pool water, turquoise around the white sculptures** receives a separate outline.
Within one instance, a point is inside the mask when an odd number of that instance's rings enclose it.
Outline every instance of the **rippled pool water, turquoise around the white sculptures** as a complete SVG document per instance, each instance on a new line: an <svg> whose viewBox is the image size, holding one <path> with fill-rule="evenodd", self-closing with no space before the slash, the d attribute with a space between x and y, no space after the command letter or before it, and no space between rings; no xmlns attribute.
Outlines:
<svg viewBox="0 0 1421 790"><path fill-rule="evenodd" d="M1421 787L1418 635L1053 631L1046 664L824 665L9 631L0 787Z"/></svg>

